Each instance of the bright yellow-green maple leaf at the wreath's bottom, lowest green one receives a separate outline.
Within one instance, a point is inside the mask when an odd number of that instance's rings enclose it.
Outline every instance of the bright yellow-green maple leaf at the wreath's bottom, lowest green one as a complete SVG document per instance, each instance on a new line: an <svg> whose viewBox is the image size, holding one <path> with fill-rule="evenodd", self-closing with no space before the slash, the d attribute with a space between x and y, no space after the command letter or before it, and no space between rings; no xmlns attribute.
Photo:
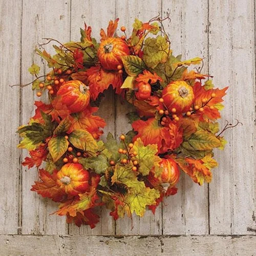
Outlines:
<svg viewBox="0 0 256 256"><path fill-rule="evenodd" d="M127 215L131 217L135 211L136 215L142 217L146 211L146 206L156 204L159 197L159 191L154 188L144 187L137 192L131 191L124 197L124 202L129 206Z"/></svg>

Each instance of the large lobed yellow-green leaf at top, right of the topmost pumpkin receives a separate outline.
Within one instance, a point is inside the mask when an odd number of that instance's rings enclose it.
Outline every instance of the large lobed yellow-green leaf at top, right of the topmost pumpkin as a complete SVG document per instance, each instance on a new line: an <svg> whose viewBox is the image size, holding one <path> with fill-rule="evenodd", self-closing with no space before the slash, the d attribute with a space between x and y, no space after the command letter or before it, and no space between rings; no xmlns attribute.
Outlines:
<svg viewBox="0 0 256 256"><path fill-rule="evenodd" d="M143 60L147 67L154 69L159 63L167 61L169 44L166 36L148 37L144 44Z"/></svg>

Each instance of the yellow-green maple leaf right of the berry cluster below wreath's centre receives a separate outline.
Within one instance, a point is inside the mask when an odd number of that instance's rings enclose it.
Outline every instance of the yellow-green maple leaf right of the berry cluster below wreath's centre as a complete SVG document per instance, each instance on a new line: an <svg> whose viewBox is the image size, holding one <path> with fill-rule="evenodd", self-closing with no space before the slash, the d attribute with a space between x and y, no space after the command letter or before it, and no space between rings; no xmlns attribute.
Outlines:
<svg viewBox="0 0 256 256"><path fill-rule="evenodd" d="M138 172L143 176L148 175L150 170L161 161L161 158L156 156L158 150L156 144L148 144L144 146L142 140L137 138L134 142L131 153L137 152L136 159L139 162Z"/></svg>

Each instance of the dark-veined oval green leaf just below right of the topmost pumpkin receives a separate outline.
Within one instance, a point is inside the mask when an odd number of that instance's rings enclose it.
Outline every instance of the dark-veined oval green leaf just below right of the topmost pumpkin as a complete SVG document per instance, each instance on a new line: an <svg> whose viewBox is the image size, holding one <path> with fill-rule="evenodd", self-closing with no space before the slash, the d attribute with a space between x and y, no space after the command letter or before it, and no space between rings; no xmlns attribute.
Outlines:
<svg viewBox="0 0 256 256"><path fill-rule="evenodd" d="M129 76L137 76L146 69L146 66L141 58L137 56L127 55L122 56L123 66Z"/></svg>

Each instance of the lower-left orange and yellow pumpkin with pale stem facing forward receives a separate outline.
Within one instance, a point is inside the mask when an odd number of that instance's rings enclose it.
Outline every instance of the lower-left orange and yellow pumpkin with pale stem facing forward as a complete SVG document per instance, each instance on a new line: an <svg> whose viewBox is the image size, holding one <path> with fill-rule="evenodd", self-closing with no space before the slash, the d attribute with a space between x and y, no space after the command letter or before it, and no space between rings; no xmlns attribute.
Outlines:
<svg viewBox="0 0 256 256"><path fill-rule="evenodd" d="M90 174L79 163L67 163L57 173L57 184L69 195L78 195L89 188Z"/></svg>

